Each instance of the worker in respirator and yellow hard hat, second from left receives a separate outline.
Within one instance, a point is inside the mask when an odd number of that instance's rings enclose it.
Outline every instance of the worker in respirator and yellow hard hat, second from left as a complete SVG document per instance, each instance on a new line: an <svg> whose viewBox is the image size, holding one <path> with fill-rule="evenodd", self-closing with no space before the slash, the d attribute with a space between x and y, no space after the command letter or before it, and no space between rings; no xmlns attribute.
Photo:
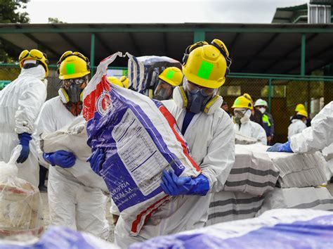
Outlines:
<svg viewBox="0 0 333 249"><path fill-rule="evenodd" d="M59 96L44 103L37 120L39 134L55 132L70 125L82 110L83 90L89 82L89 60L78 52L67 51L58 62L59 78L63 86ZM75 143L75 141L73 141ZM47 162L48 208L51 224L67 226L107 239L109 225L105 219L107 196L101 189L91 187L73 174L72 167L80 167L84 179L95 179L89 163L77 165L76 155L70 151L42 153L40 160ZM103 181L103 179L97 179ZM87 186L88 185L88 186Z"/></svg>

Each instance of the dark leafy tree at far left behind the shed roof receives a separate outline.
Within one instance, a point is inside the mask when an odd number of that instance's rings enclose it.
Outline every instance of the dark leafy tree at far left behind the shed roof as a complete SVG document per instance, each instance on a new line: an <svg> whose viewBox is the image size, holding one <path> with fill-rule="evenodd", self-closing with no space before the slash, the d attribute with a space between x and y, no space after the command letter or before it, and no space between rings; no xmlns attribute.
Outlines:
<svg viewBox="0 0 333 249"><path fill-rule="evenodd" d="M29 14L24 10L30 0L0 0L0 23L29 23ZM0 39L0 62L11 62L18 56L17 49L4 39Z"/></svg>

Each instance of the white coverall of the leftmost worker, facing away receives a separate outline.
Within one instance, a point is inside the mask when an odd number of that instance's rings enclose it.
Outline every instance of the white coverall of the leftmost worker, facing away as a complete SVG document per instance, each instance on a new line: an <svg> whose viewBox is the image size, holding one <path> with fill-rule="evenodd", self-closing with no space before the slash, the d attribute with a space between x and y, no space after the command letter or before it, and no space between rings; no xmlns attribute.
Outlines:
<svg viewBox="0 0 333 249"><path fill-rule="evenodd" d="M46 100L45 70L42 65L22 69L18 78L0 91L0 161L8 162L11 151L18 145L18 134L34 133L41 106ZM17 163L18 177L39 185L39 164L34 139L29 143L30 154Z"/></svg>

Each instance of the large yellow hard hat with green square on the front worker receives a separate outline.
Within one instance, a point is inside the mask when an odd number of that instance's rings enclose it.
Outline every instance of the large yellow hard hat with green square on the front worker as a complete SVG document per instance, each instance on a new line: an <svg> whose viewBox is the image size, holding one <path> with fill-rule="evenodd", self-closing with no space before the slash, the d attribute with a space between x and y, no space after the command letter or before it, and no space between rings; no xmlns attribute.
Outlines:
<svg viewBox="0 0 333 249"><path fill-rule="evenodd" d="M188 81L201 87L216 89L226 82L226 72L231 63L228 49L222 41L214 39L193 49L183 65Z"/></svg>

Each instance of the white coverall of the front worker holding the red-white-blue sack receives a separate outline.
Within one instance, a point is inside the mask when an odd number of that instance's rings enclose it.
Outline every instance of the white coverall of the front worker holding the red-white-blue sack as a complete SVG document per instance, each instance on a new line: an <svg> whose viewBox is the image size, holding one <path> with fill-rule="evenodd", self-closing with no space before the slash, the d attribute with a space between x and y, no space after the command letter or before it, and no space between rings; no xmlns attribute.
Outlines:
<svg viewBox="0 0 333 249"><path fill-rule="evenodd" d="M163 104L181 129L186 110L178 108L174 100L163 101ZM212 115L198 113L188 125L184 137L192 158L209 179L209 192L206 196L174 196L148 219L136 237L129 236L130 224L126 224L120 215L115 227L115 243L121 248L155 236L197 229L206 224L211 197L223 189L235 161L233 123L221 108Z"/></svg>

